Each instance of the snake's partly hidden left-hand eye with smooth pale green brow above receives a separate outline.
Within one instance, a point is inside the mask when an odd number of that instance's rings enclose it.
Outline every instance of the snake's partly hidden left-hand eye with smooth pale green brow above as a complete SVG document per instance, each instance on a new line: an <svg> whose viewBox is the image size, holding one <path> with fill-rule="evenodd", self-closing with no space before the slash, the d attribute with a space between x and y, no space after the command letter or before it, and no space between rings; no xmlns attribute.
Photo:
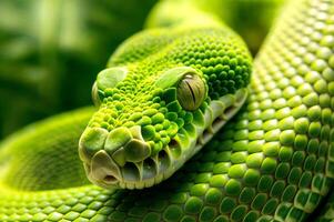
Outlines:
<svg viewBox="0 0 334 222"><path fill-rule="evenodd" d="M105 89L114 88L119 82L123 81L126 74L128 70L123 67L108 68L99 72L97 81L92 88L92 99L94 105L99 107L101 104L99 91L103 94Z"/></svg>

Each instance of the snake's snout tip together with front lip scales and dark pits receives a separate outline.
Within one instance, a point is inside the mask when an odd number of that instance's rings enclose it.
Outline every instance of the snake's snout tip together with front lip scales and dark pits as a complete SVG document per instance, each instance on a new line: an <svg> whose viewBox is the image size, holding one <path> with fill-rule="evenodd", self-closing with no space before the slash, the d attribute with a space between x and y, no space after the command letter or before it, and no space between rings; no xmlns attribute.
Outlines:
<svg viewBox="0 0 334 222"><path fill-rule="evenodd" d="M180 138L152 155L141 127L120 127L108 132L87 128L79 142L79 157L88 179L104 189L143 189L169 178L182 153ZM183 145L182 145L183 147Z"/></svg>

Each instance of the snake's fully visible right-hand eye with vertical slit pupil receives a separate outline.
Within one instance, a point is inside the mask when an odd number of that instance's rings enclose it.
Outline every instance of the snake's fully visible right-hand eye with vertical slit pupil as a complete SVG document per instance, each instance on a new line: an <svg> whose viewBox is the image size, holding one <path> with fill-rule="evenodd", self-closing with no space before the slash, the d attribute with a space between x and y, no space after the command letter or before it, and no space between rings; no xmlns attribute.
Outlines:
<svg viewBox="0 0 334 222"><path fill-rule="evenodd" d="M176 94L183 109L196 110L205 99L205 83L198 74L188 73L179 81Z"/></svg>

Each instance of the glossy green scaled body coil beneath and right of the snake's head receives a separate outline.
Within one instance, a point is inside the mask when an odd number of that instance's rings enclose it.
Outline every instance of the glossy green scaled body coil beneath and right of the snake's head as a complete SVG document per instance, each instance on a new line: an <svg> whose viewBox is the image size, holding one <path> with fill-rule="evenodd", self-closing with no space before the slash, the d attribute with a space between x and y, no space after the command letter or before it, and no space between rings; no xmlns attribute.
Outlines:
<svg viewBox="0 0 334 222"><path fill-rule="evenodd" d="M331 0L300 0L285 8L255 60L243 110L170 180L142 191L102 190L81 181L77 188L41 192L18 191L1 180L0 220L305 220L333 185L333 14ZM78 112L82 122L92 113ZM77 137L82 130L61 129ZM26 133L12 140L24 141ZM331 203L325 211L320 220L331 221Z"/></svg>

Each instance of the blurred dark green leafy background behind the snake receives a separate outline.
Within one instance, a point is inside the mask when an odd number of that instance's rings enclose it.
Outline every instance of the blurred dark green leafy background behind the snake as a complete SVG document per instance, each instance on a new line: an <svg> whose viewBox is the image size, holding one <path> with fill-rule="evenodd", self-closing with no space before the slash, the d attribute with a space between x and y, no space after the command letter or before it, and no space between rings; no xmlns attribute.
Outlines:
<svg viewBox="0 0 334 222"><path fill-rule="evenodd" d="M0 139L36 120L91 104L95 74L120 42L142 29L155 1L1 0ZM284 0L211 1L196 3L211 6L208 10L235 29L255 54Z"/></svg>

